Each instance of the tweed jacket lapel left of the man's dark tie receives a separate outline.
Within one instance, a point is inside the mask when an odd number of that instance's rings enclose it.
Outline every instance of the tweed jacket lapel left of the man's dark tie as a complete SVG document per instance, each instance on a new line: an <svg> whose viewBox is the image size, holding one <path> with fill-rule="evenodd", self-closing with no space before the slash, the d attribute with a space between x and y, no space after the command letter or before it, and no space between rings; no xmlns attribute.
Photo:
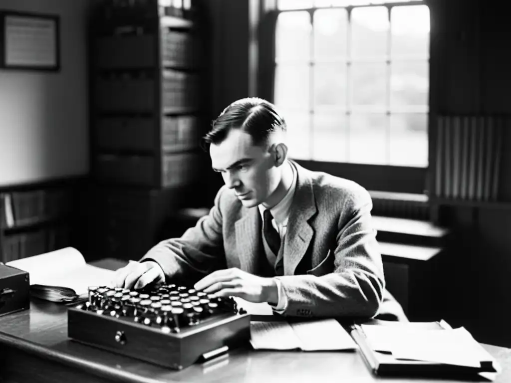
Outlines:
<svg viewBox="0 0 511 383"><path fill-rule="evenodd" d="M236 250L240 268L251 274L259 270L260 213L257 207L246 209L242 218L236 221Z"/></svg>

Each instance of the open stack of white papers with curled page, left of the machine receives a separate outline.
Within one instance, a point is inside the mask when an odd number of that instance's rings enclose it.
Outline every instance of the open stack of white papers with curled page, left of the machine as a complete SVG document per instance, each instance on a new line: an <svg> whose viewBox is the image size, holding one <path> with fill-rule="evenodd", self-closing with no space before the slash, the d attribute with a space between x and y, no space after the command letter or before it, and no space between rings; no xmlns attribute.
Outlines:
<svg viewBox="0 0 511 383"><path fill-rule="evenodd" d="M6 263L29 273L30 294L52 302L70 302L87 296L89 286L110 286L114 272L87 265L72 247Z"/></svg>

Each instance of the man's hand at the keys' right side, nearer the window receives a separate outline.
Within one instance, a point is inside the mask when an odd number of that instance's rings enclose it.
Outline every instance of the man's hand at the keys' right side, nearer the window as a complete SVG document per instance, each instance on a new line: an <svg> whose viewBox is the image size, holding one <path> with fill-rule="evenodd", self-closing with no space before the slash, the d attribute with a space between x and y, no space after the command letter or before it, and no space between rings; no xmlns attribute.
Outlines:
<svg viewBox="0 0 511 383"><path fill-rule="evenodd" d="M273 278L258 277L238 268L217 270L195 284L196 290L219 297L240 297L250 302L277 304L277 284Z"/></svg>

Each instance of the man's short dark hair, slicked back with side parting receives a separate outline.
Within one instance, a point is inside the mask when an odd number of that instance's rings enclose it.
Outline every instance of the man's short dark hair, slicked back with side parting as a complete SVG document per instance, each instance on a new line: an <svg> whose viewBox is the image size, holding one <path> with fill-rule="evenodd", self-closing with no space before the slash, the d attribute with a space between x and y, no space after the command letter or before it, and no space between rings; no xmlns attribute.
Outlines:
<svg viewBox="0 0 511 383"><path fill-rule="evenodd" d="M231 129L242 129L250 134L253 145L264 145L272 132L287 129L275 106L257 97L230 104L211 125L212 129L203 137L204 148L222 142Z"/></svg>

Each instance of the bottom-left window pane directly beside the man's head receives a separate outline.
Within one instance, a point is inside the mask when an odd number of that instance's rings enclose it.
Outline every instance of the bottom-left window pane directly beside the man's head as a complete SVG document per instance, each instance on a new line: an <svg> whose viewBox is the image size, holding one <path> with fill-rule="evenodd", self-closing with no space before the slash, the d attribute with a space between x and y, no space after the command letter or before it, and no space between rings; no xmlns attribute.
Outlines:
<svg viewBox="0 0 511 383"><path fill-rule="evenodd" d="M284 116L287 125L287 141L289 157L296 159L311 159L311 115L299 109L282 109L279 113Z"/></svg>

